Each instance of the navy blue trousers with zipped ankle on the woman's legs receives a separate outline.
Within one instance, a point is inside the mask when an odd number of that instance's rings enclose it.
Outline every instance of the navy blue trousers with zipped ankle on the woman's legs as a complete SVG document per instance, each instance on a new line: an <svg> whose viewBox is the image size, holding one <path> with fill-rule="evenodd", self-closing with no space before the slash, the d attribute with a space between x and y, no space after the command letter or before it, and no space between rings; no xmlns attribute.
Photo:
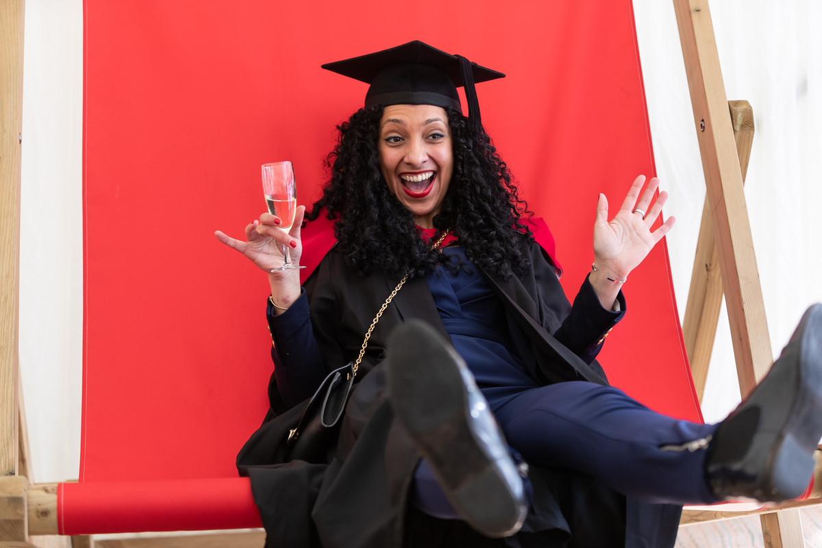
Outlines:
<svg viewBox="0 0 822 548"><path fill-rule="evenodd" d="M716 425L673 419L619 389L581 381L524 390L495 416L508 444L534 466L582 472L646 502L716 502L704 477L707 451L687 447ZM459 518L425 461L411 501L438 518Z"/></svg>

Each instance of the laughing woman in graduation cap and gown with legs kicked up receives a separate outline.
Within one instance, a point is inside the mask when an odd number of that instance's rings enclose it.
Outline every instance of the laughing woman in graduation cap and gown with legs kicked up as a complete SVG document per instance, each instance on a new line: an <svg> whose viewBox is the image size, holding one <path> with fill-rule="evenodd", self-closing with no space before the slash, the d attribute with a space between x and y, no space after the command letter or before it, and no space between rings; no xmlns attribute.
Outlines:
<svg viewBox="0 0 822 548"><path fill-rule="evenodd" d="M571 306L481 126L473 81L499 73L418 42L325 67L371 84L306 215L307 230L332 220L337 244L301 285L274 270L280 244L302 256L304 208L289 234L270 214L247 226L247 242L217 233L269 273L270 412L238 456L267 543L672 546L683 503L801 493L822 436L822 364L807 350L822 311L727 421L650 412L608 387L594 358L625 313L622 283L673 225L651 230L666 200L653 197L658 181L643 189L638 177L610 222L599 196L592 271ZM284 462L298 403L357 356L406 275L368 340L330 457ZM788 385L795 392L777 394ZM796 449L778 431L801 440ZM530 466L524 480L515 452Z"/></svg>

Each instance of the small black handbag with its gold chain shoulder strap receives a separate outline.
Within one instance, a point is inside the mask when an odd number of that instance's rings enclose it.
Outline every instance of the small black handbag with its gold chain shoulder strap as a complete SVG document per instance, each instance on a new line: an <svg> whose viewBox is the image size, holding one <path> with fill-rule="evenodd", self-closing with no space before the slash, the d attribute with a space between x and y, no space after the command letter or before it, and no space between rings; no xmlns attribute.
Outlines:
<svg viewBox="0 0 822 548"><path fill-rule="evenodd" d="M450 230L442 233L441 237L434 242L432 249L439 248L448 233L450 233ZM403 279L399 280L397 287L388 296L386 302L382 303L380 311L374 316L374 320L365 334L363 346L360 348L357 359L331 371L322 380L320 387L316 389L312 398L308 400L297 426L289 431L289 437L285 441L286 460L299 459L308 463L327 462L327 453L332 447L331 441L339 426L339 419L345 411L345 404L348 403L359 364L365 356L368 339L371 338L371 334L376 327L376 323L380 321L382 313L386 311L390 302L394 300L397 292L399 292L399 288L403 287L408 278L409 274L407 273L403 276Z"/></svg>

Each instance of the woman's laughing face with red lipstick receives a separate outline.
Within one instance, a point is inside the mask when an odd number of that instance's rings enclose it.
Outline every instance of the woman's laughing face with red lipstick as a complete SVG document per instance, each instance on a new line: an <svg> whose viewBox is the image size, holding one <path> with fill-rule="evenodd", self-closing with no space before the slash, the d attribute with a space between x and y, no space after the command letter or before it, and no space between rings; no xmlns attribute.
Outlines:
<svg viewBox="0 0 822 548"><path fill-rule="evenodd" d="M377 149L389 190L419 226L434 228L454 170L445 109L430 104L386 107Z"/></svg>

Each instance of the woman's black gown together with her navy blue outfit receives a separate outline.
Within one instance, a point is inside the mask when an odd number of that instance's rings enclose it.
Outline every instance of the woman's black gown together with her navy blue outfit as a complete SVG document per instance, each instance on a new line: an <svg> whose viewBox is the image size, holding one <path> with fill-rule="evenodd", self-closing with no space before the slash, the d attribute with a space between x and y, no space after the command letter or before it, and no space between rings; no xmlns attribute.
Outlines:
<svg viewBox="0 0 822 548"><path fill-rule="evenodd" d="M607 311L586 279L571 305L537 242L528 246L529 271L510 279L471 264L459 246L444 252L463 268L456 276L445 268L409 279L386 308L326 462L289 460L284 440L302 414L300 402L330 369L357 357L399 279L356 274L335 247L288 311L278 315L269 303L270 409L237 460L251 478L266 546L672 547L680 504L709 501L705 451L687 448L713 426L660 416L608 387L596 356L626 311L622 295L621 311ZM425 504L409 504L415 490L439 490L433 480L425 486L421 455L386 392L388 335L412 318L450 337L509 444L531 467L531 509L515 536L486 539L459 520L421 511Z"/></svg>

